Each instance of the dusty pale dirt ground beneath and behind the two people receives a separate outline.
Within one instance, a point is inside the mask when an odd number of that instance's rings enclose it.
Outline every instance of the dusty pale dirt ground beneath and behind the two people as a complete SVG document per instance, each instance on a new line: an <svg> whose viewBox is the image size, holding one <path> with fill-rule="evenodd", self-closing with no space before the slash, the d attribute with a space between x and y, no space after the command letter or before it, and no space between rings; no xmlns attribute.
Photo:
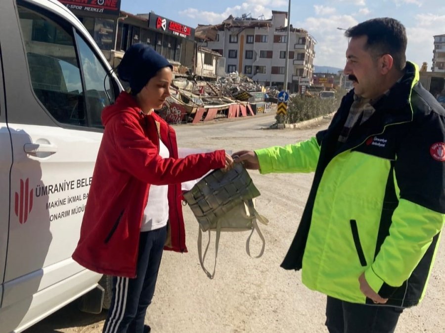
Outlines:
<svg viewBox="0 0 445 333"><path fill-rule="evenodd" d="M272 122L273 117L264 116L236 122L181 125L176 130L181 147L236 151L300 141L328 124L325 120L303 130L261 129ZM184 207L188 253L164 253L156 293L146 317L152 332L327 332L325 296L303 286L300 272L279 267L295 235L313 175L263 176L257 171L251 171L250 175L262 194L257 200L258 211L269 219L268 225L260 225L266 239L263 257L247 256L248 233L223 233L216 276L208 279L198 261L198 224L190 209ZM211 244L214 241L212 238ZM209 269L213 268L213 249L206 260ZM260 250L258 237L252 240L251 249L253 254ZM424 301L404 311L396 332L445 332L444 251L442 244ZM98 333L104 318L105 312L81 313L72 303L26 332Z"/></svg>

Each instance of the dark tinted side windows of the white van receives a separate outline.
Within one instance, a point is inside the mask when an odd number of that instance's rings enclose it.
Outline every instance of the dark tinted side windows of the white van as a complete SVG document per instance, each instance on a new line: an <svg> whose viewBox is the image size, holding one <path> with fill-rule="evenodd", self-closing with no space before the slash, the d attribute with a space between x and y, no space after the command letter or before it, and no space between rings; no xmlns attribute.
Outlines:
<svg viewBox="0 0 445 333"><path fill-rule="evenodd" d="M18 13L31 84L45 109L61 124L102 127L100 113L114 93L88 44L37 9L19 5Z"/></svg>

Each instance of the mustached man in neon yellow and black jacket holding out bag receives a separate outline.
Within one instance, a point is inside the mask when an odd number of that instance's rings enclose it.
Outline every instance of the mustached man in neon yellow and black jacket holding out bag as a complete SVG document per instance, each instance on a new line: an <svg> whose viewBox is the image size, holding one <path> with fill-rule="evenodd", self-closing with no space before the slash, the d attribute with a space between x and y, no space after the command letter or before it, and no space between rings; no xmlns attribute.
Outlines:
<svg viewBox="0 0 445 333"><path fill-rule="evenodd" d="M406 62L391 18L350 28L345 74L354 89L327 130L286 147L243 150L234 162L315 171L281 266L327 295L329 332L394 332L424 296L444 225L445 111Z"/></svg>

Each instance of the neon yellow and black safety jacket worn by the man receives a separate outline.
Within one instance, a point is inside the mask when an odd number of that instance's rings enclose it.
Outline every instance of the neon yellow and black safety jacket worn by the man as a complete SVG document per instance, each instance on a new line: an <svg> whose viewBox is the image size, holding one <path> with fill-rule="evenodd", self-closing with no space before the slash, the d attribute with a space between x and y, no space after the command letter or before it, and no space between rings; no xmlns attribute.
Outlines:
<svg viewBox="0 0 445 333"><path fill-rule="evenodd" d="M424 296L445 213L445 110L405 74L376 111L338 136L354 91L343 97L327 130L310 140L256 150L260 172L315 172L292 245L281 266L301 269L312 290L373 304L359 290L365 272L387 305Z"/></svg>

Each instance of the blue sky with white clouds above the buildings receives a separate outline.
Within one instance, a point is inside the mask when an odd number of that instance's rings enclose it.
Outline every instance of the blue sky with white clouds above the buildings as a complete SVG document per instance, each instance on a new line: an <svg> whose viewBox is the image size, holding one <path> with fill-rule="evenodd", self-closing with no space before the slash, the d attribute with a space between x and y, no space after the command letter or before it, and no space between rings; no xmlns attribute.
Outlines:
<svg viewBox="0 0 445 333"><path fill-rule="evenodd" d="M154 11L192 28L218 24L229 15L269 19L287 11L288 0L121 0L132 14ZM431 70L435 35L445 34L445 0L291 0L290 23L315 38L314 65L343 68L348 39L344 31L374 17L393 17L406 28L406 58Z"/></svg>

